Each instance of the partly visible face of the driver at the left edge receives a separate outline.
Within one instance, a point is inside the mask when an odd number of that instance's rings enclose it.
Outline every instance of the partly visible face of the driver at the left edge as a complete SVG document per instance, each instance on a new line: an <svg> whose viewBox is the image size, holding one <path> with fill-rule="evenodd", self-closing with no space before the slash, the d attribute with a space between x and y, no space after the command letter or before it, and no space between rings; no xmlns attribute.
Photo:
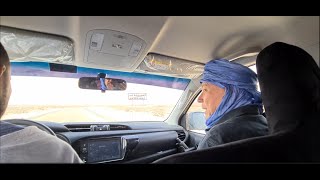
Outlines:
<svg viewBox="0 0 320 180"><path fill-rule="evenodd" d="M3 61L3 59L0 59L0 61ZM0 64L0 69L1 69L0 70L0 118L1 118L8 106L8 102L11 95L10 64L6 66Z"/></svg>

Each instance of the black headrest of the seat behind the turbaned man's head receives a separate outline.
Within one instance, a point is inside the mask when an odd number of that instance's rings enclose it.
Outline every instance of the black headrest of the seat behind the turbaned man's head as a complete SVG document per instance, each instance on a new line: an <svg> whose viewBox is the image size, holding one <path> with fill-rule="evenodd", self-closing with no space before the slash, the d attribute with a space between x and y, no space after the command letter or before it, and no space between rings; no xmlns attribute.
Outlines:
<svg viewBox="0 0 320 180"><path fill-rule="evenodd" d="M259 53L256 65L270 133L302 126L319 112L320 69L306 51L276 42Z"/></svg>

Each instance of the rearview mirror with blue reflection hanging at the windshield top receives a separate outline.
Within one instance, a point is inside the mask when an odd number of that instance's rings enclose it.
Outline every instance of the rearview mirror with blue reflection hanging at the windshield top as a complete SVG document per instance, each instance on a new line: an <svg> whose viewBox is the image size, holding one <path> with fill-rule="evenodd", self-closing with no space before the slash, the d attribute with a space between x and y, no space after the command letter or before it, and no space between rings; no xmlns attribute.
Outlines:
<svg viewBox="0 0 320 180"><path fill-rule="evenodd" d="M101 90L101 92L126 90L127 82L123 79L114 78L81 77L79 79L79 88Z"/></svg>

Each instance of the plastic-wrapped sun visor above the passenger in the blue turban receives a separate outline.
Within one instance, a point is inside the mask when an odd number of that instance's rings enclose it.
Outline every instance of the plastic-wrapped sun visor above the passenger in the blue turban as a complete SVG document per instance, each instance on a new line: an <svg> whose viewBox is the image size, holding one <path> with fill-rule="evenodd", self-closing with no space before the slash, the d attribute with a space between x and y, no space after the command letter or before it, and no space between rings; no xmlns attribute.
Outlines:
<svg viewBox="0 0 320 180"><path fill-rule="evenodd" d="M202 75L204 65L184 59L149 53L135 72L195 79Z"/></svg>

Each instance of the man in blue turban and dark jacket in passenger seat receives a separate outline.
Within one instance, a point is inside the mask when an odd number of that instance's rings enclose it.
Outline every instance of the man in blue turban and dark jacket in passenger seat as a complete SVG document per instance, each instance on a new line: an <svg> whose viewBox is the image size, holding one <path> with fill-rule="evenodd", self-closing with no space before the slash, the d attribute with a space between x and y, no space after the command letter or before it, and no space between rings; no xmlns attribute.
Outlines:
<svg viewBox="0 0 320 180"><path fill-rule="evenodd" d="M198 149L268 134L262 115L257 74L248 67L227 60L212 60L205 65L202 103L206 135Z"/></svg>

